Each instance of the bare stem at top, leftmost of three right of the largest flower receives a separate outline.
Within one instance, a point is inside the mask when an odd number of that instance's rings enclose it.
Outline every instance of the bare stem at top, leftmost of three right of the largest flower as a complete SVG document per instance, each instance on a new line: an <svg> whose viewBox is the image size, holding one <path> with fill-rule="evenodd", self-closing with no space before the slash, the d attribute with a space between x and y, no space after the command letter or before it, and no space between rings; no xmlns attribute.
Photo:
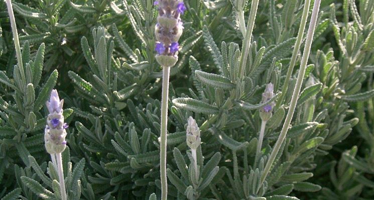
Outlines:
<svg viewBox="0 0 374 200"><path fill-rule="evenodd" d="M257 14L257 7L259 6L259 0L252 0L250 18L248 18L247 29L245 31L245 37L243 40L243 46L241 49L240 63L239 63L239 78L243 79L245 74L246 60L248 58L248 53L250 50L251 37L253 32L253 27L255 25L255 19Z"/></svg>

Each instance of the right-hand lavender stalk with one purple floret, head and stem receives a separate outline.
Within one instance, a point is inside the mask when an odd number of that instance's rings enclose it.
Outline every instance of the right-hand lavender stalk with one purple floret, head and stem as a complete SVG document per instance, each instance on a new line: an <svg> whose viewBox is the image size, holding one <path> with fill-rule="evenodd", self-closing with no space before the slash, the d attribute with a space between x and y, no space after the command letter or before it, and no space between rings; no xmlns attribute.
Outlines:
<svg viewBox="0 0 374 200"><path fill-rule="evenodd" d="M266 102L273 98L274 96L274 85L273 83L269 83L266 85L265 91L262 94L262 102ZM263 140L264 140L264 134L265 134L265 127L266 127L266 122L272 117L273 113L273 107L275 105L275 102L272 101L271 103L265 105L260 109L260 117L262 119L261 121L261 129L260 129L260 135L259 135L259 141L257 142L257 150L256 150L256 159L255 159L255 167L257 165L258 158L260 156L261 148L263 145Z"/></svg>

